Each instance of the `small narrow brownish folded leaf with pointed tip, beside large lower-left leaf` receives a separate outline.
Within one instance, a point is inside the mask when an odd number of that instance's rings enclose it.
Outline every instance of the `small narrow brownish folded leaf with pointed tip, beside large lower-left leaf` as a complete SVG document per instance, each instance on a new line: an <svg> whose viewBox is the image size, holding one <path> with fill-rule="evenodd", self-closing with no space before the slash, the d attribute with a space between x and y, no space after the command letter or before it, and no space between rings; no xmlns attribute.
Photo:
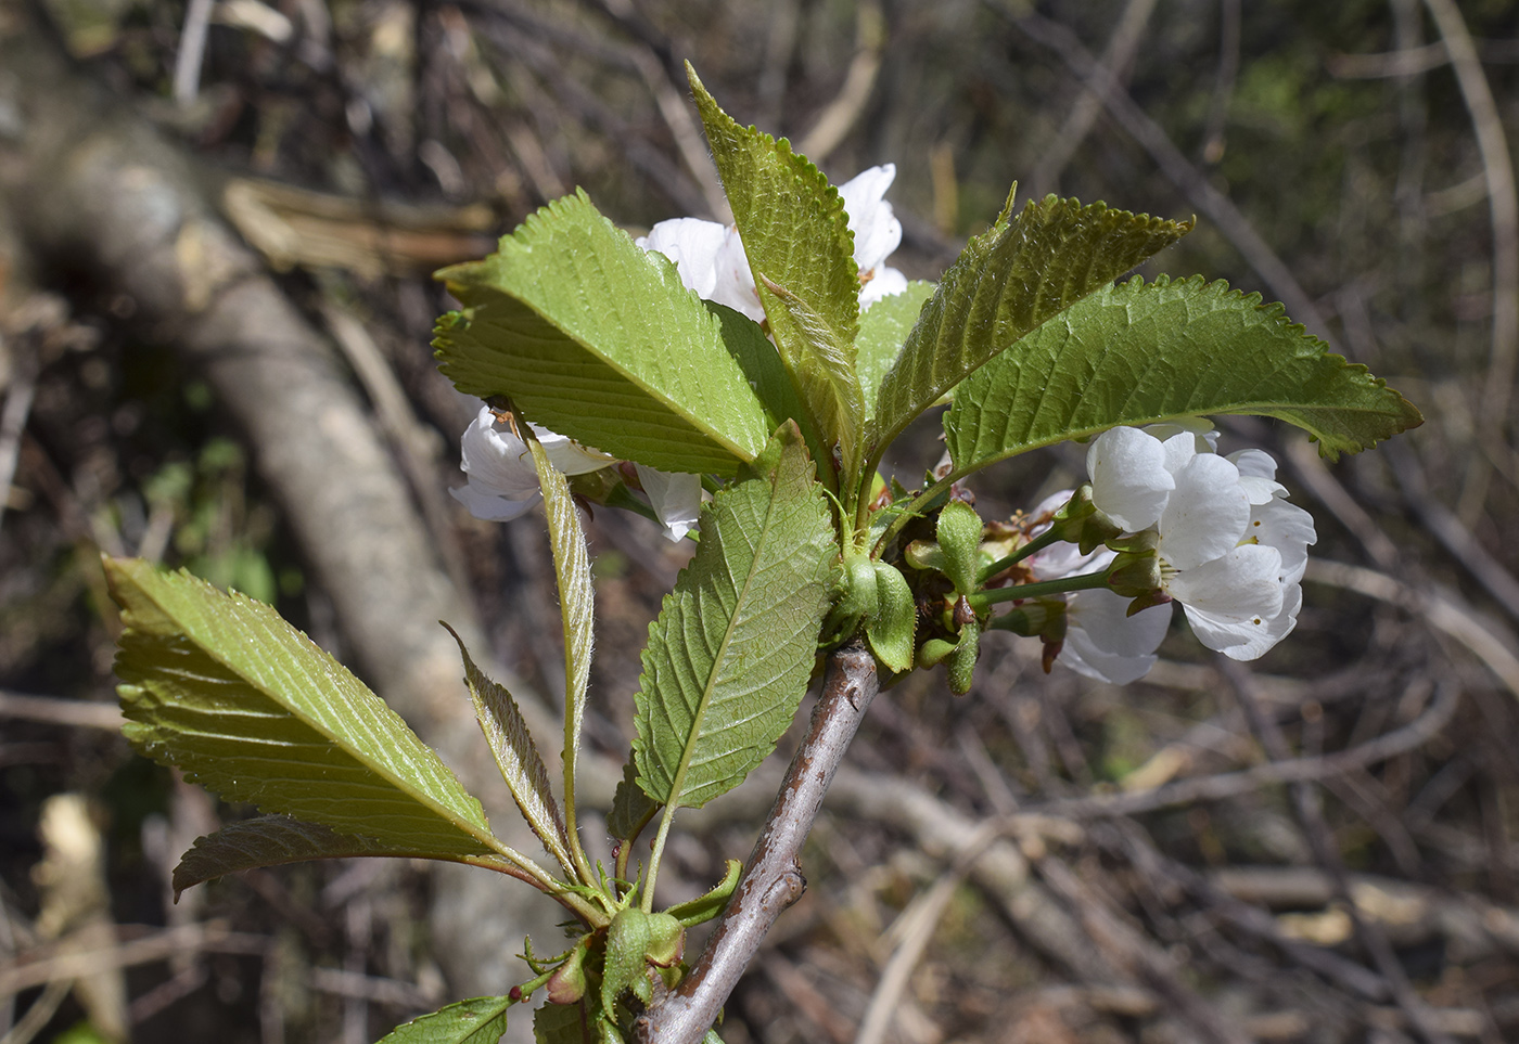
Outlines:
<svg viewBox="0 0 1519 1044"><path fill-rule="evenodd" d="M570 857L570 838L565 833L564 818L559 815L559 804L554 801L553 786L548 783L548 769L544 768L544 759L539 757L538 747L533 745L533 734L527 730L516 700L504 686L475 666L474 660L469 659L469 649L454 634L454 628L448 624L444 627L454 636L454 642L459 642L459 654L465 662L465 684L469 687L475 719L491 747L495 766L501 769L501 778L506 780L527 825L544 842L548 854L573 877L574 862Z"/></svg>

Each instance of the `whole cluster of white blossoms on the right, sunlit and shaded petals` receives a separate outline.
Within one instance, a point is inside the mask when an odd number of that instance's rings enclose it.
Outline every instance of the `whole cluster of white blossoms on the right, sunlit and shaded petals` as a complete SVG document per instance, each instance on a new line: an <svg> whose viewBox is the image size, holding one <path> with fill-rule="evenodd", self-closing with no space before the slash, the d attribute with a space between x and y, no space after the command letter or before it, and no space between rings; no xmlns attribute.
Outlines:
<svg viewBox="0 0 1519 1044"><path fill-rule="evenodd" d="M1092 504L1126 533L1154 533L1161 589L1182 604L1203 645L1253 660L1297 625L1314 520L1287 502L1270 454L1221 457L1218 432L1198 425L1104 431L1086 454ZM1036 513L1068 498L1057 493ZM1100 572L1113 557L1106 548L1082 555L1075 545L1056 543L1031 555L1030 569L1036 580L1057 580ZM1063 663L1118 684L1154 665L1168 605L1129 616L1129 599L1109 590L1075 592L1066 602Z"/></svg>

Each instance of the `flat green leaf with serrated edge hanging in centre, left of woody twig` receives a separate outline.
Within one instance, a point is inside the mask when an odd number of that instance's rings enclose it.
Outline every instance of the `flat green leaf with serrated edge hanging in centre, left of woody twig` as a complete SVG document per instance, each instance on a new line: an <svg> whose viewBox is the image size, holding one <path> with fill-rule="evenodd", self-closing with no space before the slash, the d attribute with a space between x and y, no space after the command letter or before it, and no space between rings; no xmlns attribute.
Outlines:
<svg viewBox="0 0 1519 1044"><path fill-rule="evenodd" d="M633 739L655 803L700 807L775 748L807 690L838 557L794 425L703 508L643 654Z"/></svg>

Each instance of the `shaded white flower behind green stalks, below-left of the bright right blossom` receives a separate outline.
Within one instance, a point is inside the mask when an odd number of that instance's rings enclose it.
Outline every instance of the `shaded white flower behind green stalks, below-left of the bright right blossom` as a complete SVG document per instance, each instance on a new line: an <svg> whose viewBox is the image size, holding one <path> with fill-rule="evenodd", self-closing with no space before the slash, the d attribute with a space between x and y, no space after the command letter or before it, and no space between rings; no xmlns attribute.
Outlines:
<svg viewBox="0 0 1519 1044"><path fill-rule="evenodd" d="M1059 510L1071 490L1045 498L1031 514ZM1033 530L1039 536L1045 528ZM1083 555L1074 543L1053 543L1028 557L1028 568L1036 580L1063 580L1083 574L1103 572L1112 564L1115 554L1098 548ZM1066 633L1060 646L1059 662L1089 678L1129 684L1138 681L1154 666L1154 651L1161 648L1165 631L1171 625L1168 605L1150 605L1133 616L1129 615L1129 599L1110 590L1077 590L1063 595L1066 602Z"/></svg>

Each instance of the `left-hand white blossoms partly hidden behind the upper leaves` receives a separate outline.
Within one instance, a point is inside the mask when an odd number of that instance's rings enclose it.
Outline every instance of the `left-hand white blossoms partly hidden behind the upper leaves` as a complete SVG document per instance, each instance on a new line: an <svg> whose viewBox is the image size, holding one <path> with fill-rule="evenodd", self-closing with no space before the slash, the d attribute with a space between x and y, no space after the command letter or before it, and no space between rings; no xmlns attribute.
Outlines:
<svg viewBox="0 0 1519 1044"><path fill-rule="evenodd" d="M860 307L907 288L907 278L886 267L886 259L902 241L902 225L886 202L886 190L896 178L896 167L872 167L838 187L849 229L854 232L855 264L860 267ZM728 305L755 322L764 319L755 290L749 258L737 229L696 217L677 217L655 225L638 246L670 258L681 282L697 296ZM606 454L533 425L548 460L565 475L583 475L617 461ZM469 484L450 490L469 513L486 522L507 522L538 502L538 472L526 443L489 407L465 429L460 440L465 475ZM659 472L643 464L638 483L664 525L665 536L681 540L696 528L702 507L702 476Z"/></svg>

